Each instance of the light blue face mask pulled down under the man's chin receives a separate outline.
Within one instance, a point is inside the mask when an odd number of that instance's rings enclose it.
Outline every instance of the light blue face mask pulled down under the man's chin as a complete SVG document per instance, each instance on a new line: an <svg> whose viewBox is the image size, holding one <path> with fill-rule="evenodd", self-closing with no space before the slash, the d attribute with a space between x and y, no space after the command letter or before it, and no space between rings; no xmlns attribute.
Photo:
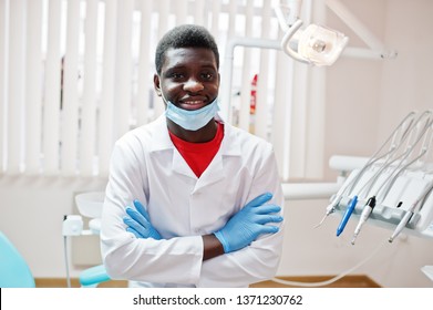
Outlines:
<svg viewBox="0 0 433 310"><path fill-rule="evenodd" d="M204 127L219 111L218 100L198 110L184 110L166 101L165 116L187 131L198 131Z"/></svg>

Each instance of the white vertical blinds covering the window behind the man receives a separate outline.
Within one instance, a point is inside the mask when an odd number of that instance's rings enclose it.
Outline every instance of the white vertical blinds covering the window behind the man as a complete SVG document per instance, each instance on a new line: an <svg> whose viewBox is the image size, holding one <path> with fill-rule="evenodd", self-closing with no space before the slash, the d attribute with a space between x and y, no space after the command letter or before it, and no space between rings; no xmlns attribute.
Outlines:
<svg viewBox="0 0 433 310"><path fill-rule="evenodd" d="M105 177L114 142L164 112L152 80L159 38L175 24L203 24L218 42L223 68L228 40L280 38L277 2L0 0L0 173ZM230 93L237 104L227 121L276 145L282 178L311 175L306 166L313 149L306 140L318 127L306 120L322 126L312 112L323 111L324 78L315 75L320 94L307 96L309 70L276 53L256 48L236 53Z"/></svg>

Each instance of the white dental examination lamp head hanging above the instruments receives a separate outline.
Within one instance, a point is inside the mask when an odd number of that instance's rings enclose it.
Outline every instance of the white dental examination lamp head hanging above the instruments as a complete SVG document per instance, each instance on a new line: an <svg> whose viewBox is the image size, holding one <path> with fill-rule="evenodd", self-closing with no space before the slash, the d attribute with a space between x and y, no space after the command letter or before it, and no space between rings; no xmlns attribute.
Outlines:
<svg viewBox="0 0 433 310"><path fill-rule="evenodd" d="M289 6L280 4L275 11L285 35L281 40L282 51L292 59L318 66L331 65L340 56L349 38L343 33L309 24L303 31L303 21L299 18L301 0L289 1Z"/></svg>

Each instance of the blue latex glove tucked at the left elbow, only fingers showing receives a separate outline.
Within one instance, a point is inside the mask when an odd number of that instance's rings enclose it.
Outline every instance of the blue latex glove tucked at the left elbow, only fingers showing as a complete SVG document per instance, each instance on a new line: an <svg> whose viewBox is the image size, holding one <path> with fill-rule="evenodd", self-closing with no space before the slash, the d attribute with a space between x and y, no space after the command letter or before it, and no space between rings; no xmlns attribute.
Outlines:
<svg viewBox="0 0 433 310"><path fill-rule="evenodd" d="M137 238L161 240L162 237L151 224L151 218L142 203L134 200L134 206L136 210L126 207L128 216L123 217L123 223L127 225L126 231L134 234Z"/></svg>

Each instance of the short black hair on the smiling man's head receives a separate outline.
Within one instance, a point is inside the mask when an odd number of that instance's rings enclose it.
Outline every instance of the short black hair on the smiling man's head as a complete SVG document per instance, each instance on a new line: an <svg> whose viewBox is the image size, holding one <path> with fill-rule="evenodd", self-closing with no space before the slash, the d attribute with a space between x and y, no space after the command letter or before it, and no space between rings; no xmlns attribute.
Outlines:
<svg viewBox="0 0 433 310"><path fill-rule="evenodd" d="M202 25L183 24L173 28L159 40L155 52L155 69L157 74L161 74L165 52L168 49L183 48L204 48L212 50L217 68L219 69L218 46L210 32Z"/></svg>

